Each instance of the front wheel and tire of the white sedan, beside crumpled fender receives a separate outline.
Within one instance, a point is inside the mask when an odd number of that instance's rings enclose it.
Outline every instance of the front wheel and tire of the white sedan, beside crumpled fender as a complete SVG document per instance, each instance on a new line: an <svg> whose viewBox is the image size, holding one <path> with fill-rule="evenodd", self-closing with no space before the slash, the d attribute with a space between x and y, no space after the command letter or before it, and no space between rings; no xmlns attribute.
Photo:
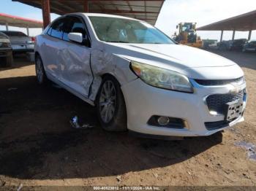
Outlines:
<svg viewBox="0 0 256 191"><path fill-rule="evenodd" d="M97 95L97 115L104 130L127 130L127 109L124 95L119 83L114 77L102 79Z"/></svg>

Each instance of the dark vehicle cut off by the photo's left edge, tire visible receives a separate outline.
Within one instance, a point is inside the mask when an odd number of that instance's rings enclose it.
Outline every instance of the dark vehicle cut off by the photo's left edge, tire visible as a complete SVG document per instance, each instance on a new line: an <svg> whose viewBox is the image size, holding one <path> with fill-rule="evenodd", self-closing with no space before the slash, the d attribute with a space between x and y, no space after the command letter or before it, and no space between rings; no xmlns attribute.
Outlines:
<svg viewBox="0 0 256 191"><path fill-rule="evenodd" d="M12 46L7 35L0 32L0 66L12 66Z"/></svg>

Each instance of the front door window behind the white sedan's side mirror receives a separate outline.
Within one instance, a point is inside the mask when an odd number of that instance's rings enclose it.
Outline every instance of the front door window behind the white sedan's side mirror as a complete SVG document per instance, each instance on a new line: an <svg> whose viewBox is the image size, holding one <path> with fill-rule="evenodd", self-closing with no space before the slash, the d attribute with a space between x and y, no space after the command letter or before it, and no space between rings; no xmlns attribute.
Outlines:
<svg viewBox="0 0 256 191"><path fill-rule="evenodd" d="M69 33L81 33L83 34L83 39L86 39L86 26L78 17L67 16L67 24L64 26L63 39L69 41L67 36Z"/></svg>

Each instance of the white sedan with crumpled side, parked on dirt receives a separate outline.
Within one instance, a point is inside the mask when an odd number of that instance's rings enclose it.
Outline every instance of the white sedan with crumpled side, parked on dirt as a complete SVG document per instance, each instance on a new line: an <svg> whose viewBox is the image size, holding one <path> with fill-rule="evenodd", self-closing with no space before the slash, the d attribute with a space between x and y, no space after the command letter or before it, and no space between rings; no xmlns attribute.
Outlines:
<svg viewBox="0 0 256 191"><path fill-rule="evenodd" d="M244 120L236 63L140 20L64 15L37 36L35 56L39 84L50 79L97 106L105 130L208 136Z"/></svg>

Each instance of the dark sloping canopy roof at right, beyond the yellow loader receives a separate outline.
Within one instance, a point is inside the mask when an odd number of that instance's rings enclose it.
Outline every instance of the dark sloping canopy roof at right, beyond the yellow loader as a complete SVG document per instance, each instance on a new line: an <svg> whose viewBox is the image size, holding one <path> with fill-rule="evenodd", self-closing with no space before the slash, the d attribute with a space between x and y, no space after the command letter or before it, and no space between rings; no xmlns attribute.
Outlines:
<svg viewBox="0 0 256 191"><path fill-rule="evenodd" d="M217 23L197 28L197 31L250 31L256 30L256 10Z"/></svg>

